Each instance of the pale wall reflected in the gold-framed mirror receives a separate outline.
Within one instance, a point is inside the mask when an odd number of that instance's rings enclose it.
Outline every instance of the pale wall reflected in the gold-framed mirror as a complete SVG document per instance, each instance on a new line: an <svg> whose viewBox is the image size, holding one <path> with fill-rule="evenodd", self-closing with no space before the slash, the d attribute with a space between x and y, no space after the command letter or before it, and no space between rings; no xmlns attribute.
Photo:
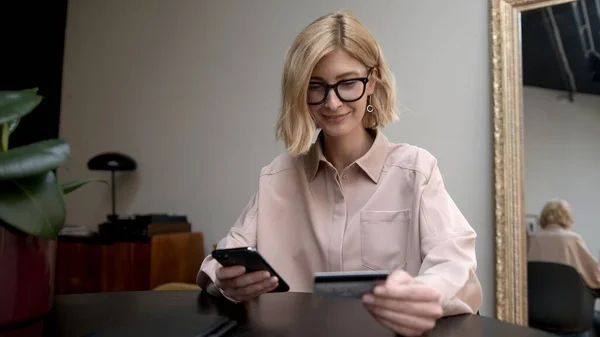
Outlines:
<svg viewBox="0 0 600 337"><path fill-rule="evenodd" d="M573 230L600 255L600 96L525 87L525 208L539 214L553 198L573 207Z"/></svg>

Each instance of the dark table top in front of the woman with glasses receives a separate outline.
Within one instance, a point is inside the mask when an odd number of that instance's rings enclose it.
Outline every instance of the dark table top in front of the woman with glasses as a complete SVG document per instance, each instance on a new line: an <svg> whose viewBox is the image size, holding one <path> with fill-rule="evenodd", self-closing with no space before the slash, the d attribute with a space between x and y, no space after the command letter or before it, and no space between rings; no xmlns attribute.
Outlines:
<svg viewBox="0 0 600 337"><path fill-rule="evenodd" d="M160 312L217 313L238 321L227 336L387 336L360 301L325 301L310 294L268 294L233 304L198 291L144 291L57 296L53 312L43 321L45 336L81 336L102 328ZM41 322L40 322L41 324ZM18 336L7 334L6 336ZM31 332L28 333L31 335ZM3 336L0 333L0 336ZM550 334L501 323L482 316L440 320L429 337L545 337Z"/></svg>

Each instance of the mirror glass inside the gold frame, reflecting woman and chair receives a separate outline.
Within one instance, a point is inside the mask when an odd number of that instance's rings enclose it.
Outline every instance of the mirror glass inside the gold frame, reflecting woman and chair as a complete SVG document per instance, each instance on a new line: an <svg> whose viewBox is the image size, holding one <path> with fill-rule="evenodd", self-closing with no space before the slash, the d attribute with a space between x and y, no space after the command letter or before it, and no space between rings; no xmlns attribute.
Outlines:
<svg viewBox="0 0 600 337"><path fill-rule="evenodd" d="M523 12L521 38L529 324L598 336L600 1Z"/></svg>

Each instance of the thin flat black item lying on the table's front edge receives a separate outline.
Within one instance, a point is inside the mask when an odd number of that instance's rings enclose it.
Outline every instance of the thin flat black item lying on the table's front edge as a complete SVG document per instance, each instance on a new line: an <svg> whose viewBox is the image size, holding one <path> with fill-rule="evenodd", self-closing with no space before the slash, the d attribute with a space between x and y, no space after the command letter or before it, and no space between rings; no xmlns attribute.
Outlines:
<svg viewBox="0 0 600 337"><path fill-rule="evenodd" d="M227 317L193 312L186 315L154 314L136 319L114 327L102 329L86 337L208 337L224 336L237 325L236 321Z"/></svg>

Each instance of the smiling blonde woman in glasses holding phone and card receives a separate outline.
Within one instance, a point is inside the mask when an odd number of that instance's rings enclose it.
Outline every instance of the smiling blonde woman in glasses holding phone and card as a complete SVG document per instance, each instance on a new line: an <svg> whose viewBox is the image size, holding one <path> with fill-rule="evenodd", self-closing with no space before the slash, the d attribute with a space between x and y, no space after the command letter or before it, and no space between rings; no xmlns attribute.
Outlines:
<svg viewBox="0 0 600 337"><path fill-rule="evenodd" d="M287 153L263 168L218 248L255 246L296 292L312 291L315 272L390 270L364 306L393 331L417 336L441 316L476 313L482 290L476 233L436 159L379 131L397 118L395 93L379 44L354 16L337 12L308 25L283 70L276 134ZM197 282L234 301L278 285L210 256Z"/></svg>

